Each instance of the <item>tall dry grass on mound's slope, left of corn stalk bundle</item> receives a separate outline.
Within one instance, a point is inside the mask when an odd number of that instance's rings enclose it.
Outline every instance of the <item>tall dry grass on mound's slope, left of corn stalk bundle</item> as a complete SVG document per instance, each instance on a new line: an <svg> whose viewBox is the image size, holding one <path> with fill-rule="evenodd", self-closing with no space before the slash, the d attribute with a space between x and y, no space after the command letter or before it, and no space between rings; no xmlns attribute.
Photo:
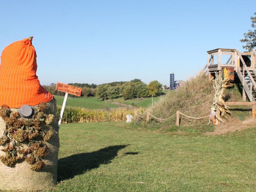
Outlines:
<svg viewBox="0 0 256 192"><path fill-rule="evenodd" d="M161 97L149 110L152 115L160 118L170 117L178 110L192 117L207 116L210 114L213 96L212 82L202 71L196 77L188 79L179 89ZM152 119L152 121L155 120ZM180 124L183 126L195 126L198 123L207 124L208 121L209 118L193 120L180 116ZM175 124L176 118L171 118L169 122Z"/></svg>

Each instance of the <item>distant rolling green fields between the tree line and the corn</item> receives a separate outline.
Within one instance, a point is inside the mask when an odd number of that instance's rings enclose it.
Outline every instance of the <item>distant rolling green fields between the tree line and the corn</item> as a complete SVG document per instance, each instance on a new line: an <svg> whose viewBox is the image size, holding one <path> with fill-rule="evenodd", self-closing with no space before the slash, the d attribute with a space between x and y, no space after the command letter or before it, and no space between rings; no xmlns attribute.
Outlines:
<svg viewBox="0 0 256 192"><path fill-rule="evenodd" d="M169 90L164 90L164 93L169 92ZM64 96L54 95L54 98L57 101L57 104L62 106ZM159 97L153 97L153 102L157 101ZM100 101L96 99L95 97L89 97L89 98L75 98L75 97L68 97L67 99L67 106L71 107L82 107L82 108L88 108L88 109L104 109L106 107L108 108L117 108L118 105L113 104L112 102L117 103L124 103L126 105L134 105L138 107L148 107L152 103L152 98L140 98L140 99L131 99L131 100L124 100L124 98L117 98L117 99L111 99L107 101Z"/></svg>

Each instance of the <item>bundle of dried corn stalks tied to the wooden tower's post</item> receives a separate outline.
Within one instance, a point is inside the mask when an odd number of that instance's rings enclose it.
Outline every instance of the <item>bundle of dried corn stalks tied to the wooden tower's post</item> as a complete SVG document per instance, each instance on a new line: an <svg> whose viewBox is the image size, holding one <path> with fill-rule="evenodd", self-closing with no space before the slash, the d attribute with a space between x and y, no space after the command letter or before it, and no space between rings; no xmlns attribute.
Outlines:
<svg viewBox="0 0 256 192"><path fill-rule="evenodd" d="M231 114L231 112L228 109L228 106L224 104L223 96L224 91L228 88L233 86L232 78L230 76L230 71L228 70L225 75L224 79L222 79L222 73L215 72L215 82L213 84L213 88L215 90L214 99L213 99L213 105L215 108L218 108L220 111L220 116L216 116L216 118L222 123L226 124L226 121L224 118L227 118L227 114ZM222 105L217 105L218 102L221 102Z"/></svg>

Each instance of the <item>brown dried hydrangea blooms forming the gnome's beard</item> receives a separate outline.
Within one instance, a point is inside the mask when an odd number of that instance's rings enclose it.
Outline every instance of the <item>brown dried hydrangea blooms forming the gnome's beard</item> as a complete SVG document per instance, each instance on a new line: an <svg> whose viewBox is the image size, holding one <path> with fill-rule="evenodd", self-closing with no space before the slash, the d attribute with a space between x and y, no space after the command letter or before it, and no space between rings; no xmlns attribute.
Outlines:
<svg viewBox="0 0 256 192"><path fill-rule="evenodd" d="M18 160L24 159L31 165L31 170L39 171L45 166L41 159L48 155L48 150L44 142L50 140L53 135L49 129L50 124L54 120L52 114L46 115L48 105L41 103L34 110L34 115L31 119L22 119L18 112L12 112L6 105L0 108L0 116L5 121L5 131L0 139L0 145L5 145L2 151L4 156L0 156L0 161L7 166L12 166ZM24 145L27 146L24 149Z"/></svg>

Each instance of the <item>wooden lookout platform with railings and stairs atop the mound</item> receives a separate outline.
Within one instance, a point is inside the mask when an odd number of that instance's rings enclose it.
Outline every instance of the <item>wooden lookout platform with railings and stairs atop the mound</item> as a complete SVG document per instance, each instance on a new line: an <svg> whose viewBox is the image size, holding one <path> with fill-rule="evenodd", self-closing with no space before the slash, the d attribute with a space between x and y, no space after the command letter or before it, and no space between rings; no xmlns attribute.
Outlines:
<svg viewBox="0 0 256 192"><path fill-rule="evenodd" d="M238 49L214 49L207 52L205 67L210 79L215 77L215 72L234 72L243 85L243 100L246 100L247 95L256 104L256 50L239 52Z"/></svg>

